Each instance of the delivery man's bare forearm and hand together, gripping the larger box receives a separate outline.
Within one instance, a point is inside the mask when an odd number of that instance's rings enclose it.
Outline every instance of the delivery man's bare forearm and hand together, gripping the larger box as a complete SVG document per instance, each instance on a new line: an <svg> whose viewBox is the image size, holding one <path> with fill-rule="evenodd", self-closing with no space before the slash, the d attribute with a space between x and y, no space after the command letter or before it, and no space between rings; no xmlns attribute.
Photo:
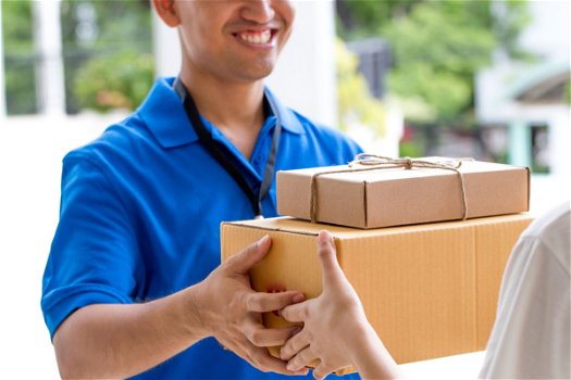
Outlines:
<svg viewBox="0 0 571 380"><path fill-rule="evenodd" d="M150 369L199 340L213 337L263 371L291 372L266 346L282 345L295 327L265 329L261 313L303 296L296 291L257 293L248 271L271 246L248 245L196 286L164 299L133 305L90 305L58 329L53 345L63 378L125 378ZM197 364L198 365L198 364Z"/></svg>

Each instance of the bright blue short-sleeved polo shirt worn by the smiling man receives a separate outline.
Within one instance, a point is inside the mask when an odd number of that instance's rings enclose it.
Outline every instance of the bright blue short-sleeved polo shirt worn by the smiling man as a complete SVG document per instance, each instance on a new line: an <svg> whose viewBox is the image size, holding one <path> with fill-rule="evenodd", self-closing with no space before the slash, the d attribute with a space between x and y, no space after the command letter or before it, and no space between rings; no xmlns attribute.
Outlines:
<svg viewBox="0 0 571 380"><path fill-rule="evenodd" d="M172 83L158 79L136 112L63 160L60 221L41 297L52 337L79 307L151 301L203 280L220 265L221 221L253 217L243 190L199 142ZM266 93L283 125L276 172L345 164L360 152ZM265 121L250 160L202 119L259 189L276 115ZM275 181L262 211L277 215ZM282 376L258 371L209 338L137 378Z"/></svg>

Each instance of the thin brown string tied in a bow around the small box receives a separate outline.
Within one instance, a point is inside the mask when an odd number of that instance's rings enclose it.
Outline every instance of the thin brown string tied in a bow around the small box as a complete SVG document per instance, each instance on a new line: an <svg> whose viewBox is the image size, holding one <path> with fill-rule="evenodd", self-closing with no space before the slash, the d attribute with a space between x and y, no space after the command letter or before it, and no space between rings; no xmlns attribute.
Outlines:
<svg viewBox="0 0 571 380"><path fill-rule="evenodd" d="M413 167L445 169L445 170L451 170L456 173L459 179L458 183L460 186L460 195L462 200L462 218L461 219L466 220L468 216L468 204L466 201L464 177L462 173L459 170L463 161L472 161L472 159L446 160L446 159L438 157L438 160L430 161L430 160L419 160L419 159L411 159L411 157L392 159L392 157L385 157L385 156L372 154L372 153L360 153L355 156L353 161L351 161L347 165L346 168L320 172L311 176L311 197L310 197L310 205L309 205L311 223L316 221L316 214L318 214L316 179L318 177L326 175L326 174L369 172L369 170L380 170L380 169L389 169L389 168L398 168L398 167L402 167L405 169L411 169ZM356 167L357 165L361 165L361 167Z"/></svg>

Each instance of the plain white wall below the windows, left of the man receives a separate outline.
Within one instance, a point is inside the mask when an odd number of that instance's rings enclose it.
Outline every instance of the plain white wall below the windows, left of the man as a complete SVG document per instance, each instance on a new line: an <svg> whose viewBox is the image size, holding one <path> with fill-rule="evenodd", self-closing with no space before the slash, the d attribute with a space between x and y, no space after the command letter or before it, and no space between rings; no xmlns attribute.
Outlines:
<svg viewBox="0 0 571 380"><path fill-rule="evenodd" d="M110 119L10 116L0 125L0 379L60 379L40 297L58 224L61 161Z"/></svg>

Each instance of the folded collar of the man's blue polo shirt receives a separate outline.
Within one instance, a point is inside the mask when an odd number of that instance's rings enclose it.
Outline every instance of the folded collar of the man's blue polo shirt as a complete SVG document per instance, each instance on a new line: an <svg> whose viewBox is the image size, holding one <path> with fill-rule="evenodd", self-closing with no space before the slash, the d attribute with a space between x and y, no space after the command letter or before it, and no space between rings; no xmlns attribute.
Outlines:
<svg viewBox="0 0 571 380"><path fill-rule="evenodd" d="M158 78L147 99L137 112L163 148L175 148L198 140L198 136L186 115L183 101L173 90L174 78ZM285 130L301 135L305 130L295 113L283 106L266 88Z"/></svg>

